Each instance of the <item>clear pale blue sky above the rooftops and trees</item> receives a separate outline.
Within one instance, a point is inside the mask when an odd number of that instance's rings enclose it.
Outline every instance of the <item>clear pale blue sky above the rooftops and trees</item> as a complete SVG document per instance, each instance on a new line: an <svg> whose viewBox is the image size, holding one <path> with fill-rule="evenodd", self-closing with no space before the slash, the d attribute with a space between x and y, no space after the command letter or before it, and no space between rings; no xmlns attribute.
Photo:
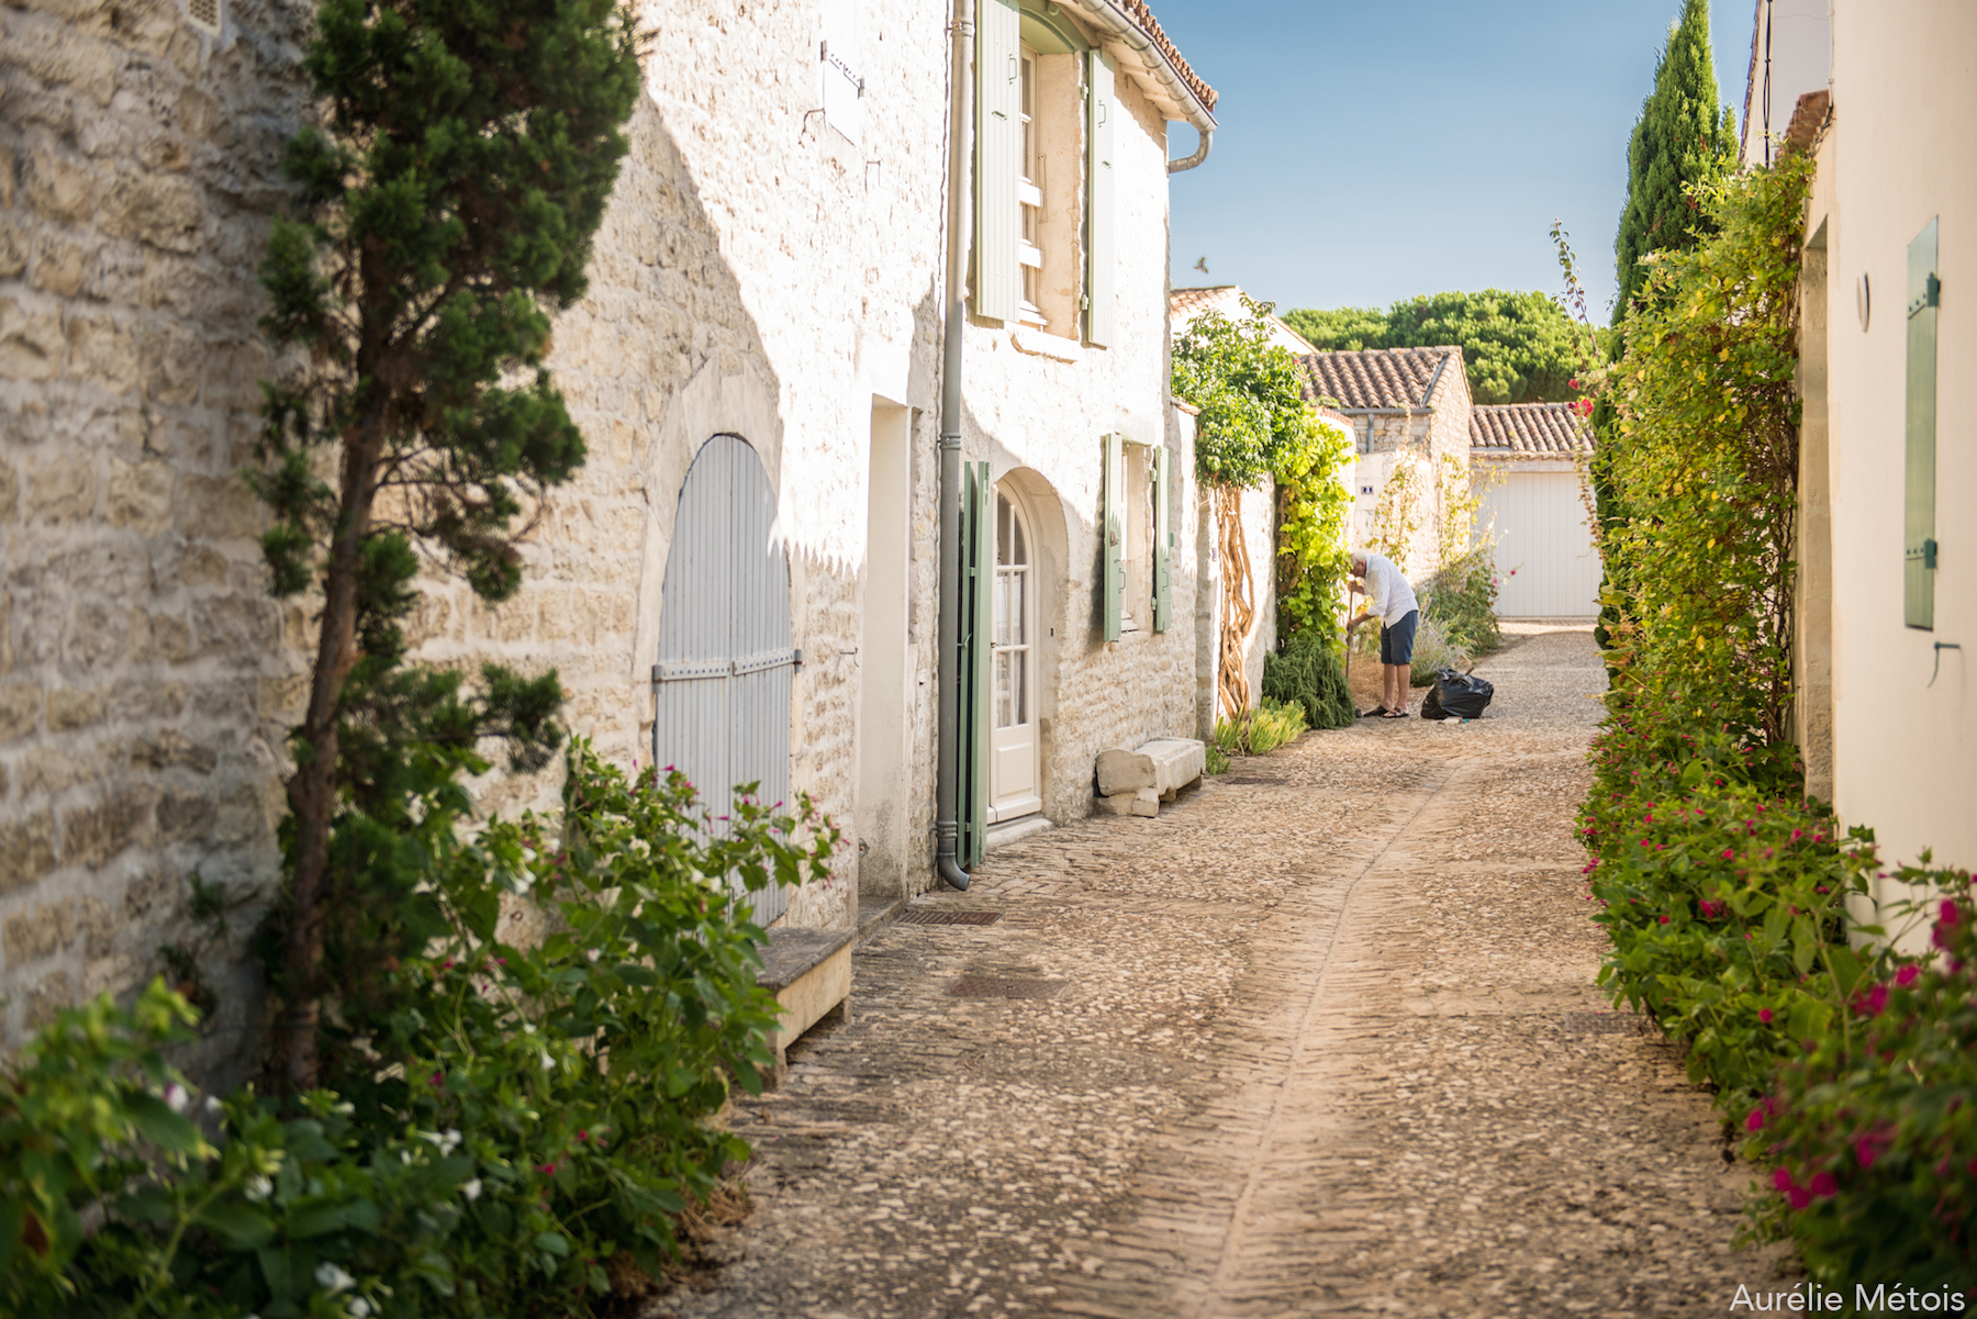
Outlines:
<svg viewBox="0 0 1977 1319"><path fill-rule="evenodd" d="M1603 320L1627 136L1680 0L1153 4L1222 97L1208 162L1172 176L1176 287L1238 283L1279 310L1558 293L1558 216ZM1738 115L1752 8L1710 6Z"/></svg>

